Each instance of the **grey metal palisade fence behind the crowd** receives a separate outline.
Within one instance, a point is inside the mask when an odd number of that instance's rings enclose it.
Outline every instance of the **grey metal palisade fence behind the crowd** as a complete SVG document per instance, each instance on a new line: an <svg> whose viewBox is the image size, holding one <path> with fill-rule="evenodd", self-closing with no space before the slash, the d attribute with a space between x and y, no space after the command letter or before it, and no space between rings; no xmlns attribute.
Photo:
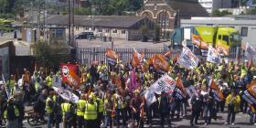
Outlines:
<svg viewBox="0 0 256 128"><path fill-rule="evenodd" d="M77 48L76 58L83 65L90 65L93 60L104 61L107 59L105 57L105 52L107 48ZM113 48L113 50L120 56L123 62L130 62L133 56L133 48ZM136 48L138 52L144 51L145 59L148 59L155 54L164 54L169 48L164 45L163 48ZM172 49L171 59L176 58L180 55L182 49ZM229 56L225 57L229 59L242 58L240 48L230 49Z"/></svg>

